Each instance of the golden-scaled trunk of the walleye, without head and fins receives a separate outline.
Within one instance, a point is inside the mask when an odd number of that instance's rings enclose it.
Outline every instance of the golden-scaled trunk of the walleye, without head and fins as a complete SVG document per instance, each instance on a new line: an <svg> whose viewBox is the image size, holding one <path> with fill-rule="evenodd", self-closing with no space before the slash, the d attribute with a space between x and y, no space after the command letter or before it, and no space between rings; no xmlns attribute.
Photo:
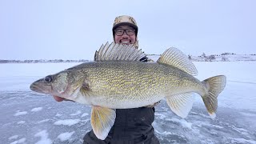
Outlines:
<svg viewBox="0 0 256 144"><path fill-rule="evenodd" d="M157 62L88 62L75 67L86 74L82 94L94 106L126 109L147 106L169 95L206 93L197 78Z"/></svg>

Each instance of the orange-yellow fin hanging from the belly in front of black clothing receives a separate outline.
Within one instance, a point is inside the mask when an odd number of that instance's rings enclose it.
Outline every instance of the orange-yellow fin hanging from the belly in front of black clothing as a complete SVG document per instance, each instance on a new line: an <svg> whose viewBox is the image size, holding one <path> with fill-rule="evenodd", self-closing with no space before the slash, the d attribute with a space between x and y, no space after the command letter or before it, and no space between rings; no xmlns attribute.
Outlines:
<svg viewBox="0 0 256 144"><path fill-rule="evenodd" d="M101 106L92 107L90 123L97 138L104 140L107 137L115 117L115 110Z"/></svg>

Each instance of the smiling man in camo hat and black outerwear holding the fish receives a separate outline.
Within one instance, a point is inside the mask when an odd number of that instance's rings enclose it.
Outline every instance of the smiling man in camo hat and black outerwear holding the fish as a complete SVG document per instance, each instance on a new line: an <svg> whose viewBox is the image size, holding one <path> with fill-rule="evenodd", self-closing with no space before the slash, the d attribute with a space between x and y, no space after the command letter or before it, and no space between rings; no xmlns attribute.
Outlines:
<svg viewBox="0 0 256 144"><path fill-rule="evenodd" d="M138 48L138 26L134 18L126 15L115 18L112 28L114 42L125 45L134 44ZM140 61L147 62L144 57ZM63 98L54 96L58 102ZM98 139L91 130L85 135L84 144L122 144L122 143L144 143L158 144L158 138L154 135L154 105L134 109L116 110L114 126L105 140Z"/></svg>

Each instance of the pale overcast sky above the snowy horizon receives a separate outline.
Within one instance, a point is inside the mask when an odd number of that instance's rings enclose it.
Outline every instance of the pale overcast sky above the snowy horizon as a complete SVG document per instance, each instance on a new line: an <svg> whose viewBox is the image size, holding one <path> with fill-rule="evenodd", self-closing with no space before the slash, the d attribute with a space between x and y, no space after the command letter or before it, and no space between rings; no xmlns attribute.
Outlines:
<svg viewBox="0 0 256 144"><path fill-rule="evenodd" d="M256 1L1 0L0 59L93 59L119 15L138 23L139 47L162 54L256 54Z"/></svg>

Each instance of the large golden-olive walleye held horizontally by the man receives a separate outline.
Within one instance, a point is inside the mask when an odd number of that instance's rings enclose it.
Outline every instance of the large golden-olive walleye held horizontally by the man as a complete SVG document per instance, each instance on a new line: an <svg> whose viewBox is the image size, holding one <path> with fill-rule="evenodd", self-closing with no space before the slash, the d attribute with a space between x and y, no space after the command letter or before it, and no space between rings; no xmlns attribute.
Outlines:
<svg viewBox="0 0 256 144"><path fill-rule="evenodd" d="M200 82L194 64L176 48L167 49L157 62L139 62L146 54L132 45L106 43L96 51L94 62L51 74L31 84L42 94L58 95L92 106L91 126L105 139L116 118L116 109L149 106L166 99L170 110L186 118L193 93L201 95L211 118L218 94L226 85L224 75Z"/></svg>

